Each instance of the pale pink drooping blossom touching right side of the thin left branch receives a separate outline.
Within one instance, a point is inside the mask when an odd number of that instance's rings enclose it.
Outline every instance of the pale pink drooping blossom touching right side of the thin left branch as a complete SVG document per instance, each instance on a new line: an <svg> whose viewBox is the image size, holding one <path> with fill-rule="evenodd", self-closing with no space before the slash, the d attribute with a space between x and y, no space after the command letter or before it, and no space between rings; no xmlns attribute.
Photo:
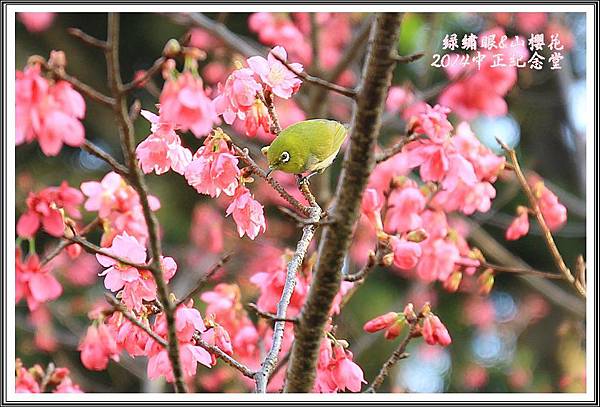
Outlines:
<svg viewBox="0 0 600 407"><path fill-rule="evenodd" d="M144 173L154 171L156 175L160 175L173 169L183 175L186 166L192 161L192 152L181 145L175 127L146 110L142 110L141 114L152 123L152 133L135 149Z"/></svg>

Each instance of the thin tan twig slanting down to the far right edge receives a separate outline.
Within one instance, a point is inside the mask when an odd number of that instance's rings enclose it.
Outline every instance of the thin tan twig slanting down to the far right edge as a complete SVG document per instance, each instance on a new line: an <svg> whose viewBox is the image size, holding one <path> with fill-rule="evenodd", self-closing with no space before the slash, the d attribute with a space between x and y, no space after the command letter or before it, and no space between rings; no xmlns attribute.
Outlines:
<svg viewBox="0 0 600 407"><path fill-rule="evenodd" d="M577 290L577 292L582 297L585 297L586 296L585 289L581 285L577 284L575 277L573 277L571 270L565 264L565 261L562 258L562 255L560 254L560 251L558 250L556 243L554 242L554 238L552 237L552 232L550 231L550 228L546 224L546 220L544 219L544 215L542 214L542 211L538 204L538 200L536 199L535 195L533 194L533 191L531 190L531 187L529 186L529 183L527 182L527 179L525 178L525 174L523 174L523 170L521 169L521 166L519 165L517 153L515 152L514 149L508 147L508 145L506 143L504 143L502 140L500 140L499 138L496 138L496 140L498 141L498 144L500 144L502 146L502 149L504 151L506 151L506 153L508 154L508 158L510 159L510 161L514 167L514 173L517 176L519 183L521 184L521 189L523 189L523 192L525 192L525 195L527 196L529 205L531 206L530 209L532 209L535 214L535 217L538 221L540 229L542 230L542 237L544 238L544 242L546 243L546 246L548 247L548 250L550 251L550 254L552 255L552 259L554 260L554 263L556 264L556 266L558 267L558 269L564 276L565 280L567 280Z"/></svg>

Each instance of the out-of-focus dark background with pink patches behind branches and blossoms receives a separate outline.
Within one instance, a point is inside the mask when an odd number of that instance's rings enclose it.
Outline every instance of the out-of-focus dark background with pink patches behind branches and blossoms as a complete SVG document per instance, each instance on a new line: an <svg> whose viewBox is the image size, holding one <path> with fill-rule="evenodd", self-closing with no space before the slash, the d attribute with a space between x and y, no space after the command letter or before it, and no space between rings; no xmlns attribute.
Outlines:
<svg viewBox="0 0 600 407"><path fill-rule="evenodd" d="M572 265L577 255L585 256L586 242L585 15L522 13L535 15L520 18L517 13L510 13L508 17L504 14L508 13L406 14L398 51L401 55L424 52L425 56L415 63L400 65L395 71L394 85L406 86L418 97L434 104L448 84L448 77L443 69L433 68L430 64L433 54L445 52L442 39L449 33L456 33L460 40L464 34L480 33L497 26L503 27L509 37L560 32L563 43L569 45L563 52L563 69L519 69L518 82L506 95L508 114L479 116L471 121L471 125L477 137L490 148L496 149L496 136L515 146L523 166L542 176L567 207L568 222L555 237L567 264ZM274 45L264 39L261 43L257 32L249 27L249 14L207 16L225 24L257 49ZM306 16L284 13L278 18L296 25L302 33ZM352 38L360 35L371 16L356 13L343 15L343 18L344 24L335 27L346 31L332 32L328 30L327 22L320 31L323 47L338 49L340 54ZM137 71L148 69L161 55L169 38L180 38L189 31L176 15L151 13L123 14L121 26L120 56L124 80L131 80ZM69 27L105 38L106 15L55 14L42 29L17 24L17 69L22 69L31 55L47 57L51 50L63 50L67 55L68 73L108 93L104 56L71 37L67 33ZM301 51L285 41L282 37L281 45L288 49L290 59L295 60L294 53L299 58ZM202 30L191 31L191 44L207 52L207 58L200 65L200 74L205 85L212 89L216 89L216 84L224 81L234 69L236 59L243 59ZM338 78L340 83L350 86L356 83L365 46L363 42L358 47L354 61ZM319 64L305 63L305 66L310 73L327 73L335 62L335 58L329 62L323 56ZM141 101L144 109L156 112L156 92L161 88L162 79L158 75L146 88L135 91L133 97ZM293 100L278 106L284 125L308 117L349 121L351 116L351 106L346 100L337 95L323 95L310 85L303 85L298 101ZM86 102L87 113L83 121L86 138L122 160L111 112ZM452 121L456 123L458 118L452 116ZM135 124L139 142L149 134L150 126L144 119L138 119ZM380 139L382 146L390 145L394 137L402 133L405 122L400 115L389 111L385 124ZM258 157L258 148L269 141L264 134L249 138L239 129L227 128L227 131L255 157ZM184 135L183 140L193 151L201 142L191 134ZM78 187L81 182L99 180L108 172L102 161L69 147L63 148L54 158L45 157L37 143L19 146L16 154L17 216L23 212L29 191L59 185L62 180ZM331 196L340 162L337 160L331 170L315 180L321 202L327 202ZM264 161L260 163L264 165ZM279 177L287 185L293 185L293 180ZM207 270L223 253L231 252L233 259L217 279L238 283L242 288L243 303L255 301L258 290L248 281L251 273L258 271L261 262L267 261L269 256L277 256L283 249L293 247L299 236L293 222L276 208L277 199L260 182L252 186L259 201L265 205L268 226L264 235L251 241L237 237L233 220L224 217L224 202L197 194L178 174L169 172L160 177L151 174L147 179L152 194L159 197L162 204L158 218L162 225L164 251L173 256L180 267L173 290L177 294L187 291L186 287L197 279L198 273ZM504 239L516 206L524 204L525 198L516 183L501 180L495 187L497 198L492 209L465 220L466 227L471 229L470 243L486 254L493 253L489 258L495 263L523 261L536 269L554 271L535 222L531 233L523 239L517 242ZM93 214L85 214L84 221L92 217ZM98 238L99 233L96 233L91 240ZM47 235L39 234L38 252L53 245L54 241ZM366 250L371 248L361 247L364 253L350 259L350 271L360 268ZM29 314L24 303L17 305L17 356L24 364L45 365L53 361L69 367L74 381L85 391L168 391L169 387L163 386L162 382L150 382L145 378L145 358L134 360L123 355L121 362L111 362L104 372L83 368L76 348L89 324L86 314L94 304L104 301L104 287L101 279L96 277L99 265L92 256L84 253L75 261L59 258L56 270L55 275L65 289L58 300L35 314ZM567 285L501 274L489 296L464 292L451 294L440 284L424 285L393 267L373 273L335 320L337 336L348 340L367 381L376 375L396 342L385 341L379 334L366 334L362 325L382 313L401 310L409 301L417 306L425 301L432 302L435 312L447 325L453 343L448 348L439 348L415 341L418 343L409 348L411 356L396 366L382 389L399 392L585 391L584 306ZM197 304L202 310L202 304L199 301ZM255 315L249 315L255 319ZM200 376L210 373L207 369L199 369ZM246 391L233 380L225 381L218 388L212 388L208 380L203 380L200 379L199 391Z"/></svg>

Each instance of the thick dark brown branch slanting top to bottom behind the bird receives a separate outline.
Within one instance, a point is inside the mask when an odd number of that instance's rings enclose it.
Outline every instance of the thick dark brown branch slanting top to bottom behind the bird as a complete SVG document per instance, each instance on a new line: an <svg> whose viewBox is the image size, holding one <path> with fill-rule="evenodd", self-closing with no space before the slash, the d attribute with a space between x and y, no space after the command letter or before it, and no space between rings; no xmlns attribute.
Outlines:
<svg viewBox="0 0 600 407"><path fill-rule="evenodd" d="M399 13L377 15L372 46L356 96L350 144L334 198L333 222L324 228L316 272L295 331L286 392L309 392L313 388L320 339L340 288L341 268L358 219L363 190L375 165L374 148L395 66L400 19Z"/></svg>

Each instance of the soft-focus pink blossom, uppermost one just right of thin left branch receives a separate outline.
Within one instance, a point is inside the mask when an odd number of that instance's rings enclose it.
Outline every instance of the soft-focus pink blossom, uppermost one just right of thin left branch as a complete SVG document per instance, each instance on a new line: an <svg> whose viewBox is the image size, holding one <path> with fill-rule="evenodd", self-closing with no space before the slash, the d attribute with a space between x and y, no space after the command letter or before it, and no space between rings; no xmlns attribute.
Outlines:
<svg viewBox="0 0 600 407"><path fill-rule="evenodd" d="M189 71L165 82L160 94L160 116L182 131L191 130L196 137L205 136L219 122L202 79Z"/></svg>

